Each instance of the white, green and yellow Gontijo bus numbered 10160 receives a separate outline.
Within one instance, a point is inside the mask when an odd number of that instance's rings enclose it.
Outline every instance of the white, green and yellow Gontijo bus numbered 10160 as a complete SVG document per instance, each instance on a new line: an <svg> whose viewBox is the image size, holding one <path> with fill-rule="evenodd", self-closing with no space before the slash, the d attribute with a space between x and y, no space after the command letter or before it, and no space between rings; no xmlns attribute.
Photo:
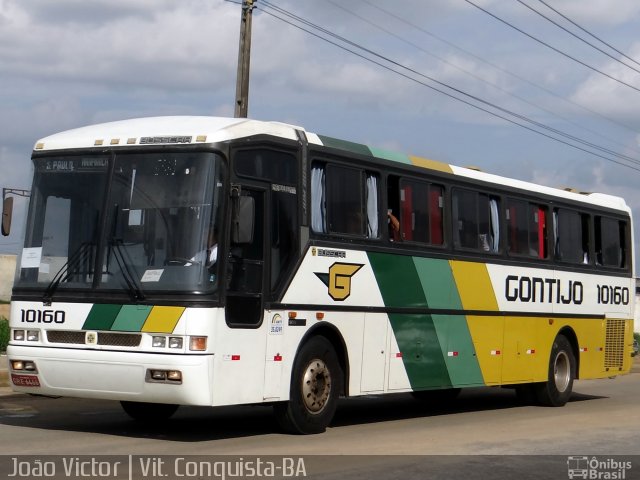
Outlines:
<svg viewBox="0 0 640 480"><path fill-rule="evenodd" d="M247 119L89 126L32 160L16 391L144 420L266 403L317 433L340 396L561 406L574 379L630 370L621 198Z"/></svg>

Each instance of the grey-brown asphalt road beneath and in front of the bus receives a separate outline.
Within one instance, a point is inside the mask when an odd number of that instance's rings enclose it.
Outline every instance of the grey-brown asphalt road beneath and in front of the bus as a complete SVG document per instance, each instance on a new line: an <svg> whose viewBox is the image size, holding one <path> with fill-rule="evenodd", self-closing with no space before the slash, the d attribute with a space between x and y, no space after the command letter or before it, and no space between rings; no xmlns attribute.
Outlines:
<svg viewBox="0 0 640 480"><path fill-rule="evenodd" d="M296 456L306 462L308 477L373 479L568 478L569 456L596 456L631 461L635 468L624 478L640 478L638 367L615 380L576 382L562 408L521 406L513 391L501 388L463 390L444 407L407 394L345 399L327 432L304 437L279 433L264 406L182 407L171 420L145 426L129 420L117 402L4 389L0 449L4 455L129 459ZM8 468L10 457L2 458Z"/></svg>

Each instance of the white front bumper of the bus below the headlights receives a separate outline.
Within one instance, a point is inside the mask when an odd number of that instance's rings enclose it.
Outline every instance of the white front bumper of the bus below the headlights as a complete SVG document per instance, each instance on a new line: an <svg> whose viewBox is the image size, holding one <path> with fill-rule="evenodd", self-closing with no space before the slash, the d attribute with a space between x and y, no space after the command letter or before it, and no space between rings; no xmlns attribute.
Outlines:
<svg viewBox="0 0 640 480"><path fill-rule="evenodd" d="M9 345L9 380L16 392L38 395L211 405L213 355L159 355ZM12 361L35 371L14 370ZM180 382L154 380L151 371L179 371Z"/></svg>

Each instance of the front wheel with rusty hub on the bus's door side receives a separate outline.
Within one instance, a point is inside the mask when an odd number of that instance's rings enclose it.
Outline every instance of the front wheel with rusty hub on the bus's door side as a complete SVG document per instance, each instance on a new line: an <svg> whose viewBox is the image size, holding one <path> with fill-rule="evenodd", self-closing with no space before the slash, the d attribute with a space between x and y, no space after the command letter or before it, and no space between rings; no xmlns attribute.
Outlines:
<svg viewBox="0 0 640 480"><path fill-rule="evenodd" d="M325 337L313 337L296 357L288 402L274 405L280 427L289 433L325 431L338 406L342 369L336 351Z"/></svg>

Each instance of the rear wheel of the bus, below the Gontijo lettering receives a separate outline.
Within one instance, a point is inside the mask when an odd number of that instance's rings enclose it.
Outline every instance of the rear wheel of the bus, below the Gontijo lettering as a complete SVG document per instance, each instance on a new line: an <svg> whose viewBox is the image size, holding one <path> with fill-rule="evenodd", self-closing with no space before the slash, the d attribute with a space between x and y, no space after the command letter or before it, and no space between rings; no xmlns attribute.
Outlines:
<svg viewBox="0 0 640 480"><path fill-rule="evenodd" d="M571 397L575 377L576 360L571 344L564 335L558 335L551 348L548 380L535 387L538 403L562 407Z"/></svg>

